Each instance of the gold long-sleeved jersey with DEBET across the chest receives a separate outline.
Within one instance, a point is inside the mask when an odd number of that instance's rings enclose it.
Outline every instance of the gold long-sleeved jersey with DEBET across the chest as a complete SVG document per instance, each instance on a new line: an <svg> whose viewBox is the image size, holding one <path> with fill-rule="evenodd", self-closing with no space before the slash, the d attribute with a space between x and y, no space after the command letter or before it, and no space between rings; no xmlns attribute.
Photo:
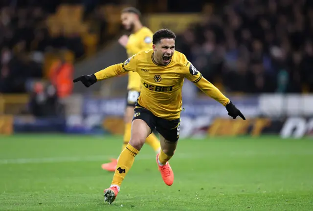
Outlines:
<svg viewBox="0 0 313 211"><path fill-rule="evenodd" d="M95 73L98 80L124 72L137 72L142 86L138 104L157 117L174 120L180 117L184 78L195 83L204 93L223 105L229 103L221 91L204 79L186 56L175 51L169 64L159 65L153 59L153 50L140 51L124 63L112 65Z"/></svg>

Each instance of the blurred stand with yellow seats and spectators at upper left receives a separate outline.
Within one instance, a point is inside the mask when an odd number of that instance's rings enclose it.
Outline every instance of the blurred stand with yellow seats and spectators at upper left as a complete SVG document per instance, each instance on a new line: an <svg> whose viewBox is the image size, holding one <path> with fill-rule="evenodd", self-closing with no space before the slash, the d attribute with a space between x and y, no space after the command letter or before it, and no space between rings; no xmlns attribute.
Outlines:
<svg viewBox="0 0 313 211"><path fill-rule="evenodd" d="M48 78L60 56L74 63L93 55L118 31L119 11L126 6L101 5L90 15L83 4L68 2L54 5L55 10L48 3L1 6L1 92L25 92L27 78ZM20 77L10 79L14 75Z"/></svg>

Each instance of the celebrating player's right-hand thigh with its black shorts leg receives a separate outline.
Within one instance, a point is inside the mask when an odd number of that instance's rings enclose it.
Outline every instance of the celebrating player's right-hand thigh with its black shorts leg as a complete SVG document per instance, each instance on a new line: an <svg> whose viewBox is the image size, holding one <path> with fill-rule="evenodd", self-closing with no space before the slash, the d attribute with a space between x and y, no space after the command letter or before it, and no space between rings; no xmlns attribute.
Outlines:
<svg viewBox="0 0 313 211"><path fill-rule="evenodd" d="M179 140L180 119L165 120L158 118L156 130L160 134L161 148L167 155L173 155Z"/></svg>

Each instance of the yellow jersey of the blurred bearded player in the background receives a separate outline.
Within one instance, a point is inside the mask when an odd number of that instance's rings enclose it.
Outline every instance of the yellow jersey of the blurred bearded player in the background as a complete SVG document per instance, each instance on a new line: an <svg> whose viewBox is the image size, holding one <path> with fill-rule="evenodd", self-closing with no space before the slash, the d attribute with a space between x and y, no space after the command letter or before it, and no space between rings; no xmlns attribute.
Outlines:
<svg viewBox="0 0 313 211"><path fill-rule="evenodd" d="M141 50L152 49L152 36L152 31L147 27L142 27L139 31L131 34L126 45L128 57L133 56ZM128 73L127 89L140 91L140 76L136 72L130 71Z"/></svg>

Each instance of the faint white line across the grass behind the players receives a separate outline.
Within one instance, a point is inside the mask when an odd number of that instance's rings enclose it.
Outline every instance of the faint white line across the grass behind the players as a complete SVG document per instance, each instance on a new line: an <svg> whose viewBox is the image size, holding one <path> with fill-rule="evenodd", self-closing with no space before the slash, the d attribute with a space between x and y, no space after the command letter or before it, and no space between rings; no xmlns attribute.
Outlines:
<svg viewBox="0 0 313 211"><path fill-rule="evenodd" d="M36 164L36 163L65 163L65 162L90 162L90 161L106 161L110 158L116 156L110 155L97 155L97 156L87 156L87 157L50 157L50 158L17 158L17 159L0 159L0 165L6 164ZM174 156L178 159L189 159L199 156L187 155L187 154L178 154ZM202 157L202 156L201 156ZM137 155L136 160L154 160L156 159L155 155Z"/></svg>

